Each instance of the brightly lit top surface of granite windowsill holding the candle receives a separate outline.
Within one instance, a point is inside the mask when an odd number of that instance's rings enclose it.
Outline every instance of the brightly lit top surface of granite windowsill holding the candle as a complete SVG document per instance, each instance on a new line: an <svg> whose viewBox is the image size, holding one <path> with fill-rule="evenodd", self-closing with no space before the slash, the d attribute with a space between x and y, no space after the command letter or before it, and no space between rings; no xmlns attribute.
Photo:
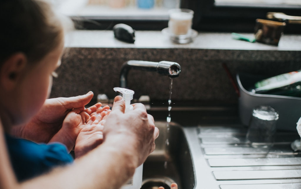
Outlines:
<svg viewBox="0 0 301 189"><path fill-rule="evenodd" d="M249 37L251 33L241 33ZM114 38L111 30L74 30L67 35L66 47L94 48L187 48L222 50L301 50L301 35L284 34L278 47L259 42L250 43L231 38L231 33L198 32L192 43L174 44L161 31L136 31L135 44Z"/></svg>

